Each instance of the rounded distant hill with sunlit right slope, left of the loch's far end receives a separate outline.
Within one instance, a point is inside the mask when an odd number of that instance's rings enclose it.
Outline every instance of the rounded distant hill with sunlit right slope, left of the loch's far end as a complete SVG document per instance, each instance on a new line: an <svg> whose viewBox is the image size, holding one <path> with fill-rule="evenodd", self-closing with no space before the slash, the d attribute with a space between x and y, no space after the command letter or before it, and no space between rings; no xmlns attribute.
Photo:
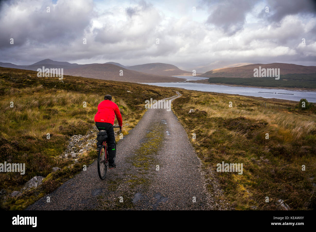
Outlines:
<svg viewBox="0 0 316 232"><path fill-rule="evenodd" d="M164 63L150 63L129 66L127 69L163 76L191 76L192 72L179 69L177 66Z"/></svg>

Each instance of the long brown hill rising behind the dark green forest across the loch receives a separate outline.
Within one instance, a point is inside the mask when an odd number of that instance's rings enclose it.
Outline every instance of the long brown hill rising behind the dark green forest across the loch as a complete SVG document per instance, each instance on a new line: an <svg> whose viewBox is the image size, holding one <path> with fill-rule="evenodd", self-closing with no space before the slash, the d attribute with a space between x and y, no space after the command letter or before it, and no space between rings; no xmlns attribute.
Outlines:
<svg viewBox="0 0 316 232"><path fill-rule="evenodd" d="M285 63L272 63L272 64L251 64L239 67L218 68L205 72L199 77L240 77L250 78L253 77L254 69L259 68L279 68L280 74L292 73L316 73L316 66L303 66Z"/></svg>

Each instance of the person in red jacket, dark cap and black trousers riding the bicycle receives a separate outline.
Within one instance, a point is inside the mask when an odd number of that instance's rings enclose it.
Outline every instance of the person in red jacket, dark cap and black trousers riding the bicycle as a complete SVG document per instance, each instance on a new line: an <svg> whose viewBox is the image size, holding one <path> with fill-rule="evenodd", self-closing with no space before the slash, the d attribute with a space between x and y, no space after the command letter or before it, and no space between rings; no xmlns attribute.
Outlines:
<svg viewBox="0 0 316 232"><path fill-rule="evenodd" d="M107 133L107 146L109 156L109 169L116 168L115 164L115 136L114 136L114 119L116 118L119 122L120 129L123 128L122 116L119 111L117 104L112 102L111 95L105 95L104 101L98 105L98 112L94 116L94 122L98 130L105 130ZM102 143L97 142L97 151L99 151Z"/></svg>

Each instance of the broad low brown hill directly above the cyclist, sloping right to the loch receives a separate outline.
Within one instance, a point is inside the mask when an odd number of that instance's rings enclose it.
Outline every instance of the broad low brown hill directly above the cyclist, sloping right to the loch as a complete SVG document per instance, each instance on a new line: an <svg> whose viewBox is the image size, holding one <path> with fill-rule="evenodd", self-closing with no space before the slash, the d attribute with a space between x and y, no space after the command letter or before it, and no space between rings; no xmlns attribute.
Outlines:
<svg viewBox="0 0 316 232"><path fill-rule="evenodd" d="M121 70L123 71L123 76L119 75ZM64 69L64 75L127 82L174 82L184 80L176 77L137 72L113 64L79 65Z"/></svg>

